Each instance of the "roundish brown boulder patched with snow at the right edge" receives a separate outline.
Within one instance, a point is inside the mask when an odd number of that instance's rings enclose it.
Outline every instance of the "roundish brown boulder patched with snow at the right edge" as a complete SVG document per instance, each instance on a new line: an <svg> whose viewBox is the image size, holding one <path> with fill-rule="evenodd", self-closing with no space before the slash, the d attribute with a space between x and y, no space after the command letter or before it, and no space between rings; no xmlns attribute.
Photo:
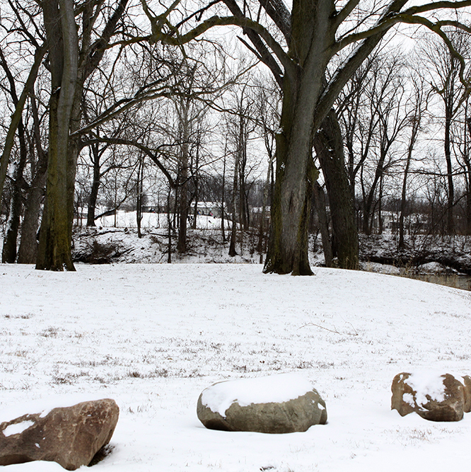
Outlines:
<svg viewBox="0 0 471 472"><path fill-rule="evenodd" d="M392 380L391 409L401 416L415 412L431 421L459 421L471 407L471 379L451 374L402 372Z"/></svg>

